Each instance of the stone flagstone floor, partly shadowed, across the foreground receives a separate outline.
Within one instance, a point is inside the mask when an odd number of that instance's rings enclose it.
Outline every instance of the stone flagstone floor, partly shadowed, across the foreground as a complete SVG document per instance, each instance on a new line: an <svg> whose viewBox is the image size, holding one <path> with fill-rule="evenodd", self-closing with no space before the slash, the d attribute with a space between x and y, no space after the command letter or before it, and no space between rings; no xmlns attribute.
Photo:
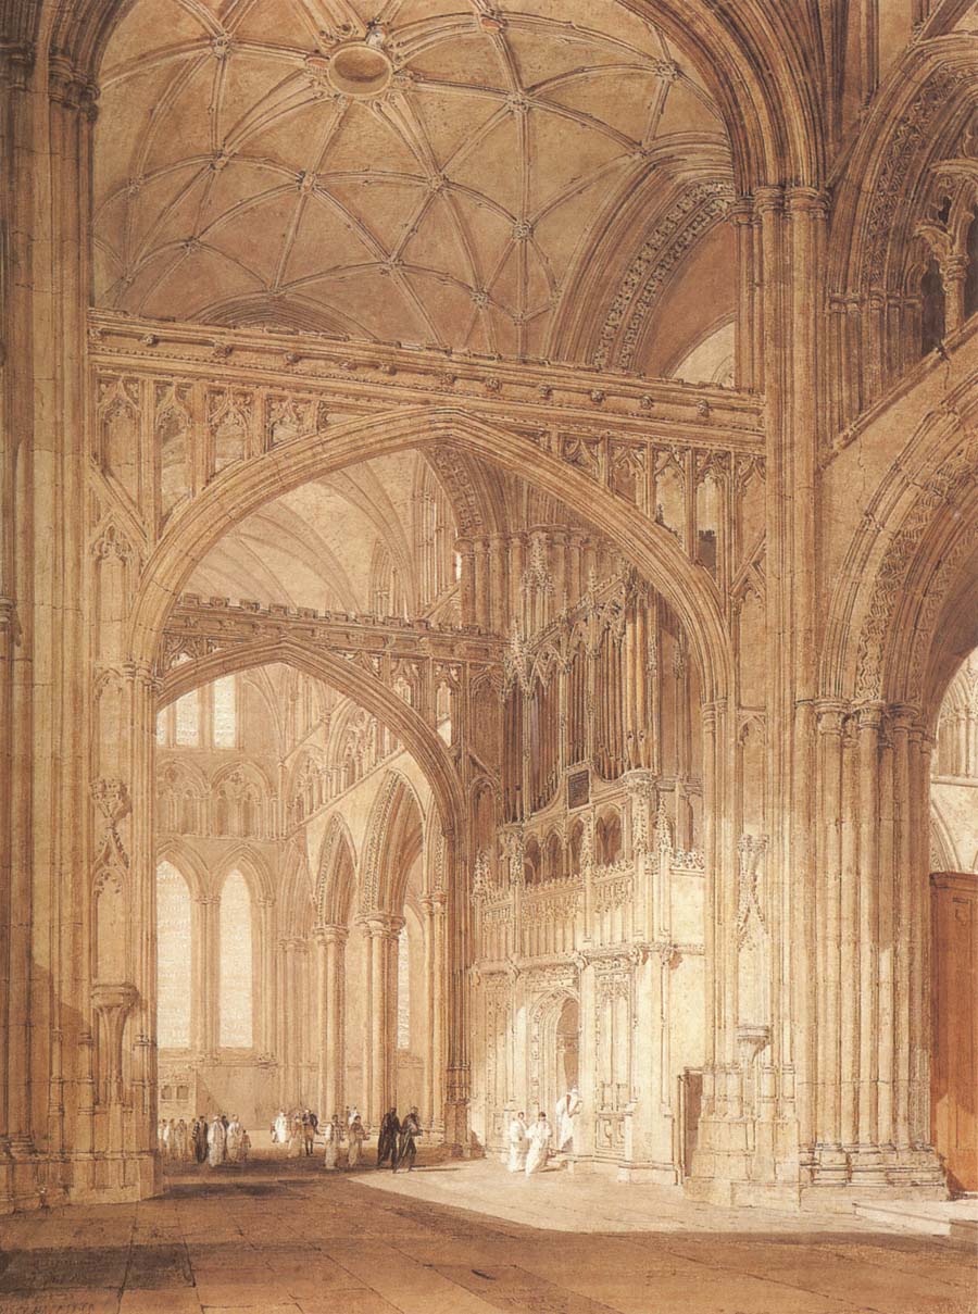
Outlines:
<svg viewBox="0 0 978 1314"><path fill-rule="evenodd" d="M473 1212L502 1210L519 1188L514 1208L538 1225ZM540 1226L555 1219L561 1230ZM326 1175L318 1158L268 1152L244 1171L183 1169L139 1205L0 1219L0 1314L244 1310L973 1314L978 1254L856 1218L694 1208L581 1173L526 1183L494 1163L431 1163Z"/></svg>

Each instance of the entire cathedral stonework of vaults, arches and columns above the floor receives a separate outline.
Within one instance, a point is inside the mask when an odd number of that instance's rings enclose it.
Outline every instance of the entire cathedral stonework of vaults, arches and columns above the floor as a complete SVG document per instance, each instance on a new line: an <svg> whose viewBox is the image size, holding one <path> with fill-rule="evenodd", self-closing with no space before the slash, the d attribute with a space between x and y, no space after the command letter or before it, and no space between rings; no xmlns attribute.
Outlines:
<svg viewBox="0 0 978 1314"><path fill-rule="evenodd" d="M0 142L0 1213L978 1190L978 7L8 0Z"/></svg>

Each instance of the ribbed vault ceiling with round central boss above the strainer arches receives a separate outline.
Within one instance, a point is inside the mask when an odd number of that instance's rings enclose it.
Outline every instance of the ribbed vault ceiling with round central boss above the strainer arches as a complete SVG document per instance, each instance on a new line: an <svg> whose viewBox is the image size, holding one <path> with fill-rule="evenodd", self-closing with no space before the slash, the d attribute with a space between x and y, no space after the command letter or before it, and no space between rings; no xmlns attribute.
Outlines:
<svg viewBox="0 0 978 1314"><path fill-rule="evenodd" d="M99 304L506 356L723 142L615 0L137 0L100 83Z"/></svg>

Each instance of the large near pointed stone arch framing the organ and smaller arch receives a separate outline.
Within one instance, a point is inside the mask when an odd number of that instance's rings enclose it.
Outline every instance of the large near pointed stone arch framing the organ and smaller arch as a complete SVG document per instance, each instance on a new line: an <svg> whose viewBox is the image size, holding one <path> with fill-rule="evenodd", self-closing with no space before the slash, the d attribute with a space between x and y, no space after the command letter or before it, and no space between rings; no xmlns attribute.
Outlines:
<svg viewBox="0 0 978 1314"><path fill-rule="evenodd" d="M686 557L668 530L581 470L542 451L528 438L502 430L456 407L413 407L356 419L264 452L214 480L177 515L143 572L133 608L129 644L135 662L152 665L174 597L205 552L264 502L312 478L405 447L448 444L473 452L528 480L599 526L663 594L690 640L703 681L703 698L732 695L730 636L719 593L709 573Z"/></svg>

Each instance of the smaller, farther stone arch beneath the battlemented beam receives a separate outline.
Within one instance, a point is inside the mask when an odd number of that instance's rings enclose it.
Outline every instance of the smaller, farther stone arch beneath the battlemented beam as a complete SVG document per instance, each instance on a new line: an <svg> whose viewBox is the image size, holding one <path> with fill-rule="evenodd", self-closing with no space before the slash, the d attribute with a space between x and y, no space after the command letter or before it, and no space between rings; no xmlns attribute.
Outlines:
<svg viewBox="0 0 978 1314"><path fill-rule="evenodd" d="M388 725L427 777L446 832L460 840L464 837L464 796L444 741L386 685L342 657L304 648L289 640L263 640L238 649L210 653L196 661L183 662L170 671L163 682L160 706L220 675L272 662L294 666L314 679L325 681Z"/></svg>

